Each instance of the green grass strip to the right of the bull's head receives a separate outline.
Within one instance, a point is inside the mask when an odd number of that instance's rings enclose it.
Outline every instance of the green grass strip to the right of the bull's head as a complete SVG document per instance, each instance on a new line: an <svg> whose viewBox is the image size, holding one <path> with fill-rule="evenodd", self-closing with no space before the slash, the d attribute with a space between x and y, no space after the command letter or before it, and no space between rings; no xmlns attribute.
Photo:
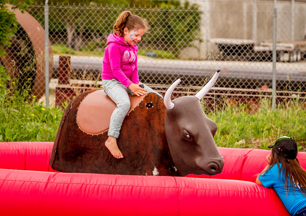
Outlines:
<svg viewBox="0 0 306 216"><path fill-rule="evenodd" d="M273 111L269 99L259 103L258 110L252 114L246 105L240 104L223 106L223 111L207 115L218 126L217 146L267 149L281 136L293 137L299 149L305 146L306 109L303 101L291 99L278 104Z"/></svg>

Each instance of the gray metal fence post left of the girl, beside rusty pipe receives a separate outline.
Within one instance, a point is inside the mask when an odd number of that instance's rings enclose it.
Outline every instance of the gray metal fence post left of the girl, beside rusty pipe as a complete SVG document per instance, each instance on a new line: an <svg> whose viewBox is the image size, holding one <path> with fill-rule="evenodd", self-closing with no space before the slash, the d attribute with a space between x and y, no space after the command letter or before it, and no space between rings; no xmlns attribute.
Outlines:
<svg viewBox="0 0 306 216"><path fill-rule="evenodd" d="M46 106L49 107L49 6L45 2L45 95Z"/></svg>

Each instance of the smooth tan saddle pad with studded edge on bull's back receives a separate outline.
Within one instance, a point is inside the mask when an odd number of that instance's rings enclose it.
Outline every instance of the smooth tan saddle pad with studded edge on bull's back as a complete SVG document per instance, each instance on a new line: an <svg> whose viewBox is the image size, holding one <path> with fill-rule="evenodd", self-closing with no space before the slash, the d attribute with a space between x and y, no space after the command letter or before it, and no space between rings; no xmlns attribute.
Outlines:
<svg viewBox="0 0 306 216"><path fill-rule="evenodd" d="M144 99L144 96L129 95L131 107L128 114ZM110 116L115 108L116 103L103 90L91 92L80 103L76 122L79 128L88 134L103 133L110 126Z"/></svg>

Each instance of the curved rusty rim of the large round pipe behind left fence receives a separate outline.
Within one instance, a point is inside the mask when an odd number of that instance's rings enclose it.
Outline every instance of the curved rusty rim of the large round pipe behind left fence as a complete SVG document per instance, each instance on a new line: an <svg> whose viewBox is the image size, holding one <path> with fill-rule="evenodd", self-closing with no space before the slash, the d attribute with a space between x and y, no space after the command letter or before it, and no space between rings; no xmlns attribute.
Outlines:
<svg viewBox="0 0 306 216"><path fill-rule="evenodd" d="M20 10L13 10L12 5L7 4L7 6L8 9L16 15L18 23L26 32L34 50L36 72L31 93L37 98L40 98L45 93L45 30L39 22L26 11L21 13ZM1 57L2 63L7 69L10 68L14 62L18 62L19 60L17 59L18 55L16 54L16 47L20 47L21 44L15 38L13 38L12 42L12 46L4 47L4 50L7 53L6 57ZM11 52L11 54L8 54L8 51ZM49 80L52 76L52 72L53 52L49 40ZM13 76L13 74L11 74L11 76Z"/></svg>

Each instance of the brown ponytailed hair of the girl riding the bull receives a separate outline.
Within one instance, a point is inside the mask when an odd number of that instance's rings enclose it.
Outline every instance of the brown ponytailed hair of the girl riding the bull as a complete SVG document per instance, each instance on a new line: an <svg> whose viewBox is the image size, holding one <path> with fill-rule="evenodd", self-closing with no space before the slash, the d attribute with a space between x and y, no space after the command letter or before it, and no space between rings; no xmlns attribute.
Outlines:
<svg viewBox="0 0 306 216"><path fill-rule="evenodd" d="M116 23L113 27L113 33L117 36L123 36L123 29L127 28L129 31L133 29L145 29L145 33L151 31L151 27L146 19L141 18L137 15L133 15L130 11L125 10L118 16Z"/></svg>

